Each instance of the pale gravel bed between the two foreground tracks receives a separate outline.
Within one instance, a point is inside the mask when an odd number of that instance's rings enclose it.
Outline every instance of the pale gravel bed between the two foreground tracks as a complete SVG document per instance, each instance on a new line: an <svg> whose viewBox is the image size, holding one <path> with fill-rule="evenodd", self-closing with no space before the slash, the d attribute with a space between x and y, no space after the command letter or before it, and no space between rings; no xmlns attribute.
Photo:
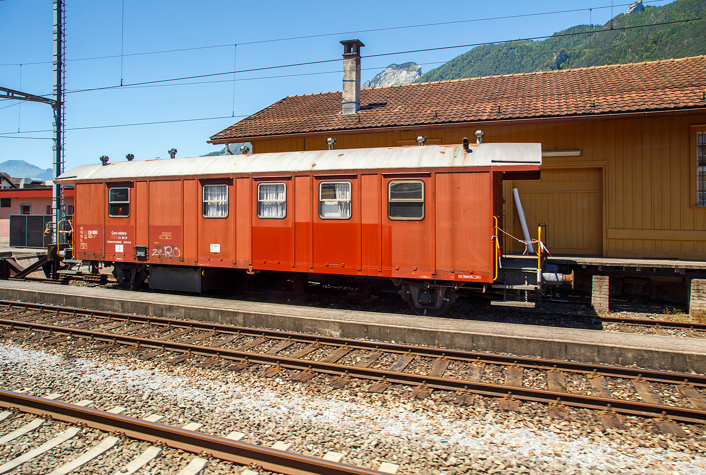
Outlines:
<svg viewBox="0 0 706 475"><path fill-rule="evenodd" d="M73 356L67 357L67 350ZM345 390L331 390L331 378L321 375L301 384L287 381L287 371L261 378L262 366L233 373L195 368L193 362L170 366L165 360L112 356L90 351L89 345L38 351L37 342L5 342L0 345L0 384L11 390L31 386L30 393L40 396L62 392L68 402L93 399L97 409L121 405L129 416L162 414L162 422L172 425L196 421L204 424L202 431L215 435L241 431L249 443L291 442L292 450L304 455L321 457L333 450L345 455L345 463L372 469L387 461L399 464L401 474L706 475L703 426L683 426L690 436L677 439L636 417L624 417L625 430L614 431L603 428L594 411L582 409L571 411L571 421L559 421L550 419L542 404L504 412L498 411L496 399L477 397L472 407L461 407L449 402L454 395L443 392L409 399L409 388L393 385L373 395L365 392L367 383L357 381ZM500 380L504 373L494 377ZM539 377L525 371L525 378ZM567 375L569 385L573 379ZM631 386L623 388L628 389L635 394ZM1 424L0 434L11 423L16 421ZM132 453L126 447L109 452L85 473L100 473L109 457L127 457L117 455ZM173 452L172 457L181 455ZM149 473L176 473L167 471L166 460L159 459ZM208 470L239 473L242 467Z"/></svg>

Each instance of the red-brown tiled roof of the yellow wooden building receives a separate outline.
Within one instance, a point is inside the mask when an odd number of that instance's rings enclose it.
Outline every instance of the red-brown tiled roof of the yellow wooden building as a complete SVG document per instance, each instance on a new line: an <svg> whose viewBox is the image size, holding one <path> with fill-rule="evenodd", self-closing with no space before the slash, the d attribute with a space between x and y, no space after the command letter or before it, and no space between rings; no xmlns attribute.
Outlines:
<svg viewBox="0 0 706 475"><path fill-rule="evenodd" d="M340 91L322 92L285 97L211 140L686 109L706 107L705 91L706 56L693 56L364 89L347 116Z"/></svg>

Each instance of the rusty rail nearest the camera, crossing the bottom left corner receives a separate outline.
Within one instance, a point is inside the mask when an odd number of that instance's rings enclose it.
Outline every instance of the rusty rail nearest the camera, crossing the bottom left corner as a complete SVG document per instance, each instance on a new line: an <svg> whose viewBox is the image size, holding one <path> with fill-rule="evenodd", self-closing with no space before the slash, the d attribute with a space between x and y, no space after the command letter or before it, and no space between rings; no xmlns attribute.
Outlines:
<svg viewBox="0 0 706 475"><path fill-rule="evenodd" d="M382 472L347 464L330 462L316 457L284 452L282 450L237 442L207 433L188 431L157 422L120 416L88 407L52 401L43 397L23 395L18 392L0 390L0 407L16 408L18 411L37 414L57 421L85 424L90 428L109 433L121 433L127 437L145 440L157 445L195 454L203 452L217 459L237 464L256 464L265 470L285 475L379 475Z"/></svg>

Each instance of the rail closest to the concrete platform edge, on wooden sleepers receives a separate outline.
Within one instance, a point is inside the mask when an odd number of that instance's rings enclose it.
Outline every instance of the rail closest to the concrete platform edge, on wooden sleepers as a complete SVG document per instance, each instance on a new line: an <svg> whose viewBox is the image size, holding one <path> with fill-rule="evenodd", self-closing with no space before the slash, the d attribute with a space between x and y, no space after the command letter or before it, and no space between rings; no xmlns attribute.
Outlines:
<svg viewBox="0 0 706 475"><path fill-rule="evenodd" d="M689 384L706 387L706 376L690 373L676 373L672 371L657 371L645 368L629 368L626 366L610 366L594 363L578 363L574 361L563 361L556 359L529 358L522 356L507 356L501 354L481 353L479 351L462 351L455 349L443 349L433 347L419 347L405 344L388 342L375 342L366 340L352 340L337 337L326 337L321 335L309 335L306 333L287 332L281 330L260 330L249 327L239 327L236 325L223 325L220 323L210 323L203 321L179 320L174 318L154 317L145 315L132 315L130 313L114 313L109 311L93 311L84 308L72 308L45 303L24 303L16 301L0 300L0 305L27 306L28 308L42 308L51 311L76 313L77 315L92 315L95 318L112 318L116 320L129 320L131 323L148 323L151 325L164 325L179 328L193 328L195 330L213 331L224 334L240 333L245 336L267 337L272 339L292 339L300 343L319 343L328 346L348 346L353 349L378 350L395 354L414 354L428 358L446 358L456 361L482 361L489 364L517 365L524 368L547 371L549 369L559 369L568 373L594 374L609 376L613 378L637 379L642 376L643 380L653 383L681 384L688 380ZM0 318L2 315L0 314ZM13 320L21 323L19 320ZM68 329L68 327L67 327Z"/></svg>

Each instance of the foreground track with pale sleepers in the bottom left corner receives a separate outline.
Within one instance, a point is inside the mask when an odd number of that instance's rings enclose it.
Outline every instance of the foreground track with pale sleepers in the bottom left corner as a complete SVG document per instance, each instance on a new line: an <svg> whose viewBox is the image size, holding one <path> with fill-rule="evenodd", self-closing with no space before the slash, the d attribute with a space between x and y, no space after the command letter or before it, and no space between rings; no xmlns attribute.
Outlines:
<svg viewBox="0 0 706 475"><path fill-rule="evenodd" d="M178 475L201 473L208 466L208 458L211 457L216 462L234 462L238 465L287 475L380 475L383 473L327 459L297 455L276 448L242 443L237 440L239 433L219 437L199 432L200 424L191 423L181 428L167 426L157 422L160 419L157 414L147 416L145 419L135 419L122 415L121 412L125 410L122 407L103 411L90 408L92 401L84 400L78 404L67 404L56 400L56 397L59 395L35 397L20 392L0 390L0 407L7 409L0 412L0 447L18 442L20 445L16 447L25 446L26 449L34 445L31 450L18 450L21 453L17 457L8 459L4 463L0 462L0 474L17 467L32 466L32 473L65 475L102 457L106 452L119 450L119 446L126 447L124 450L128 450L127 447L135 441L150 445L144 447L139 455L129 453L126 457L112 457L114 461L127 458L130 462L115 464L113 467L100 467L100 472L132 474L160 457L169 447L195 454L189 457L189 463L179 471ZM23 415L25 415L24 420ZM28 417L28 415L34 415L37 418ZM9 426L13 420L16 423ZM6 426L8 427L4 430ZM52 433L46 440L42 440L41 435L35 435L37 428L42 426L45 434ZM76 453L71 453L68 457L62 455L64 461L53 460L59 457L55 454L51 461L41 462L42 457L52 455L51 451L55 447L75 438L85 438L89 428L95 430L90 440L71 444L72 449L78 445ZM28 440L27 436L32 440ZM95 439L100 440L88 450L82 448L92 444ZM174 459L169 459L172 465L174 465L173 461ZM177 465L176 468L180 467ZM239 471L241 467L235 468Z"/></svg>

